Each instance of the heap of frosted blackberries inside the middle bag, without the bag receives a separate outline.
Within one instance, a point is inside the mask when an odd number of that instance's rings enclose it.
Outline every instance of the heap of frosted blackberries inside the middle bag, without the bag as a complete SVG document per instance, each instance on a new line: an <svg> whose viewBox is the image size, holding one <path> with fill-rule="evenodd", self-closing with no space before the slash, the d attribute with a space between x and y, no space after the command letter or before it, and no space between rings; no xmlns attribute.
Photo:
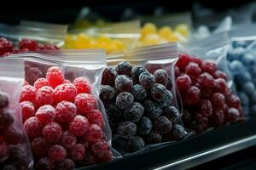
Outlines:
<svg viewBox="0 0 256 170"><path fill-rule="evenodd" d="M146 69L148 68L148 69ZM103 71L100 98L113 132L113 148L121 153L147 144L183 139L179 111L173 106L171 77L155 65L121 62Z"/></svg>

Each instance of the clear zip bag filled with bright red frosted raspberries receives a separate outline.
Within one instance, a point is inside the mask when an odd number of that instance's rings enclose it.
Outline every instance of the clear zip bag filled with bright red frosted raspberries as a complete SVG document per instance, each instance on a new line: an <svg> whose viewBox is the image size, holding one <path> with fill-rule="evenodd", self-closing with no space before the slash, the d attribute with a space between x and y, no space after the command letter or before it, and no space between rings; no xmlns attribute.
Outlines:
<svg viewBox="0 0 256 170"><path fill-rule="evenodd" d="M111 130L98 94L103 50L18 54L43 76L21 90L22 121L36 169L73 169L113 160Z"/></svg>

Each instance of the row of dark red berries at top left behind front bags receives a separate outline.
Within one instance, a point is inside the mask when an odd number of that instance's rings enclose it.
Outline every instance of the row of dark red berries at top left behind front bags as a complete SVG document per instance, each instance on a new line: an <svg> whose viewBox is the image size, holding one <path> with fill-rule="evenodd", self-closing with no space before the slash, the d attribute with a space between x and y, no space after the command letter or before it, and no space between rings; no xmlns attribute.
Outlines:
<svg viewBox="0 0 256 170"><path fill-rule="evenodd" d="M22 39L19 42L19 48L14 47L14 43L10 42L4 37L0 38L0 56L8 56L10 54L19 54L26 53L29 51L38 51L38 50L51 50L59 49L52 44L41 44L31 39Z"/></svg>

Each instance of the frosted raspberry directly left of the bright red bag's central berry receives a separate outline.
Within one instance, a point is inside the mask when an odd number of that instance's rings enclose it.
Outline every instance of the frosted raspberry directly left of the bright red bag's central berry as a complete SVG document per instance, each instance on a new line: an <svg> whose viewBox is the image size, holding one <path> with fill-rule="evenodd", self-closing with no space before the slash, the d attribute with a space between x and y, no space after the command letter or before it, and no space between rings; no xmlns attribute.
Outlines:
<svg viewBox="0 0 256 170"><path fill-rule="evenodd" d="M36 112L36 117L38 117L42 125L53 122L55 119L55 108L51 105L43 105Z"/></svg>

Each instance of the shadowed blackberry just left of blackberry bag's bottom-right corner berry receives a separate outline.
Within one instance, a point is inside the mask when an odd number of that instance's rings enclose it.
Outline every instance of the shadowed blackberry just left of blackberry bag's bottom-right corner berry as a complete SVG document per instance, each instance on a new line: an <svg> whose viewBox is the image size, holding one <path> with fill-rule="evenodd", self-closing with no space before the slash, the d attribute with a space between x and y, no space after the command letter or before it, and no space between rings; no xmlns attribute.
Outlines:
<svg viewBox="0 0 256 170"><path fill-rule="evenodd" d="M172 130L172 122L166 116L160 116L154 121L154 130L160 134L169 133Z"/></svg>

